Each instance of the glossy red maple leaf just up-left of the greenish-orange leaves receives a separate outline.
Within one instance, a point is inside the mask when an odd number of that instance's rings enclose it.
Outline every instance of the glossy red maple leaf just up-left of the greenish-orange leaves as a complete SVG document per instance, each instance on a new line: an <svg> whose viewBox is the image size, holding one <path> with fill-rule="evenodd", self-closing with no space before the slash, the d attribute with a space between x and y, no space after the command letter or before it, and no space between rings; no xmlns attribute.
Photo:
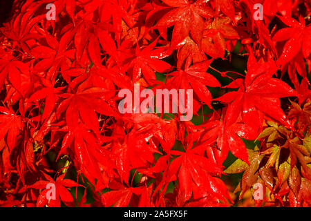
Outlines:
<svg viewBox="0 0 311 221"><path fill-rule="evenodd" d="M226 113L227 115L228 113ZM226 117L224 121L221 121L211 117L207 122L204 122L202 126L205 128L206 133L202 135L201 142L206 142L209 145L217 145L216 149L207 153L211 159L216 160L218 165L223 164L228 151L231 151L236 157L249 164L247 149L240 137L246 140L255 140L258 134L245 124L229 124L228 118Z"/></svg>

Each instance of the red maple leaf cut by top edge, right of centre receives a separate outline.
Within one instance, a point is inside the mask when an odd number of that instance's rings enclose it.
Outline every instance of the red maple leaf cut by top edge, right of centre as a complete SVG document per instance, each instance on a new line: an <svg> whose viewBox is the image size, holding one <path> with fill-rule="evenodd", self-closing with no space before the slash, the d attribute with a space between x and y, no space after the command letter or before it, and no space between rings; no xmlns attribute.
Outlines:
<svg viewBox="0 0 311 221"><path fill-rule="evenodd" d="M175 49L189 35L200 46L205 20L214 15L207 1L199 0L190 3L187 0L163 0L171 10L156 24L157 28L174 26L171 48Z"/></svg>

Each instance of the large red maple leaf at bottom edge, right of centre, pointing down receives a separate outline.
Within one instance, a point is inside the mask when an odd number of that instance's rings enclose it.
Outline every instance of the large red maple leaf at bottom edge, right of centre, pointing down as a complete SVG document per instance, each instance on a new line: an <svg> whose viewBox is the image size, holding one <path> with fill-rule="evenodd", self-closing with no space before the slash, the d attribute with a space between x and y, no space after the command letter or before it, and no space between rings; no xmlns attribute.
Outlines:
<svg viewBox="0 0 311 221"><path fill-rule="evenodd" d="M179 206L189 200L193 193L196 195L198 188L214 195L219 200L230 199L225 184L218 177L212 176L222 173L222 169L200 153L202 150L199 147L187 148L185 152L171 151L171 154L180 156L169 165L167 182L176 179L177 175L180 188Z"/></svg>

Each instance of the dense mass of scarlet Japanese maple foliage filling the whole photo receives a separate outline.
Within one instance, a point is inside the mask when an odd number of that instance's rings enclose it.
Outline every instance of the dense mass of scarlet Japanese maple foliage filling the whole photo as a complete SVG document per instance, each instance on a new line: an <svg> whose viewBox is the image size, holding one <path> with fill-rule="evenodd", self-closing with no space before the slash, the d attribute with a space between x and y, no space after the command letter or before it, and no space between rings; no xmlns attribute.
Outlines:
<svg viewBox="0 0 311 221"><path fill-rule="evenodd" d="M0 206L230 206L258 184L256 206L311 206L310 8L24 1L0 29ZM193 89L194 119L121 114L134 84Z"/></svg>

